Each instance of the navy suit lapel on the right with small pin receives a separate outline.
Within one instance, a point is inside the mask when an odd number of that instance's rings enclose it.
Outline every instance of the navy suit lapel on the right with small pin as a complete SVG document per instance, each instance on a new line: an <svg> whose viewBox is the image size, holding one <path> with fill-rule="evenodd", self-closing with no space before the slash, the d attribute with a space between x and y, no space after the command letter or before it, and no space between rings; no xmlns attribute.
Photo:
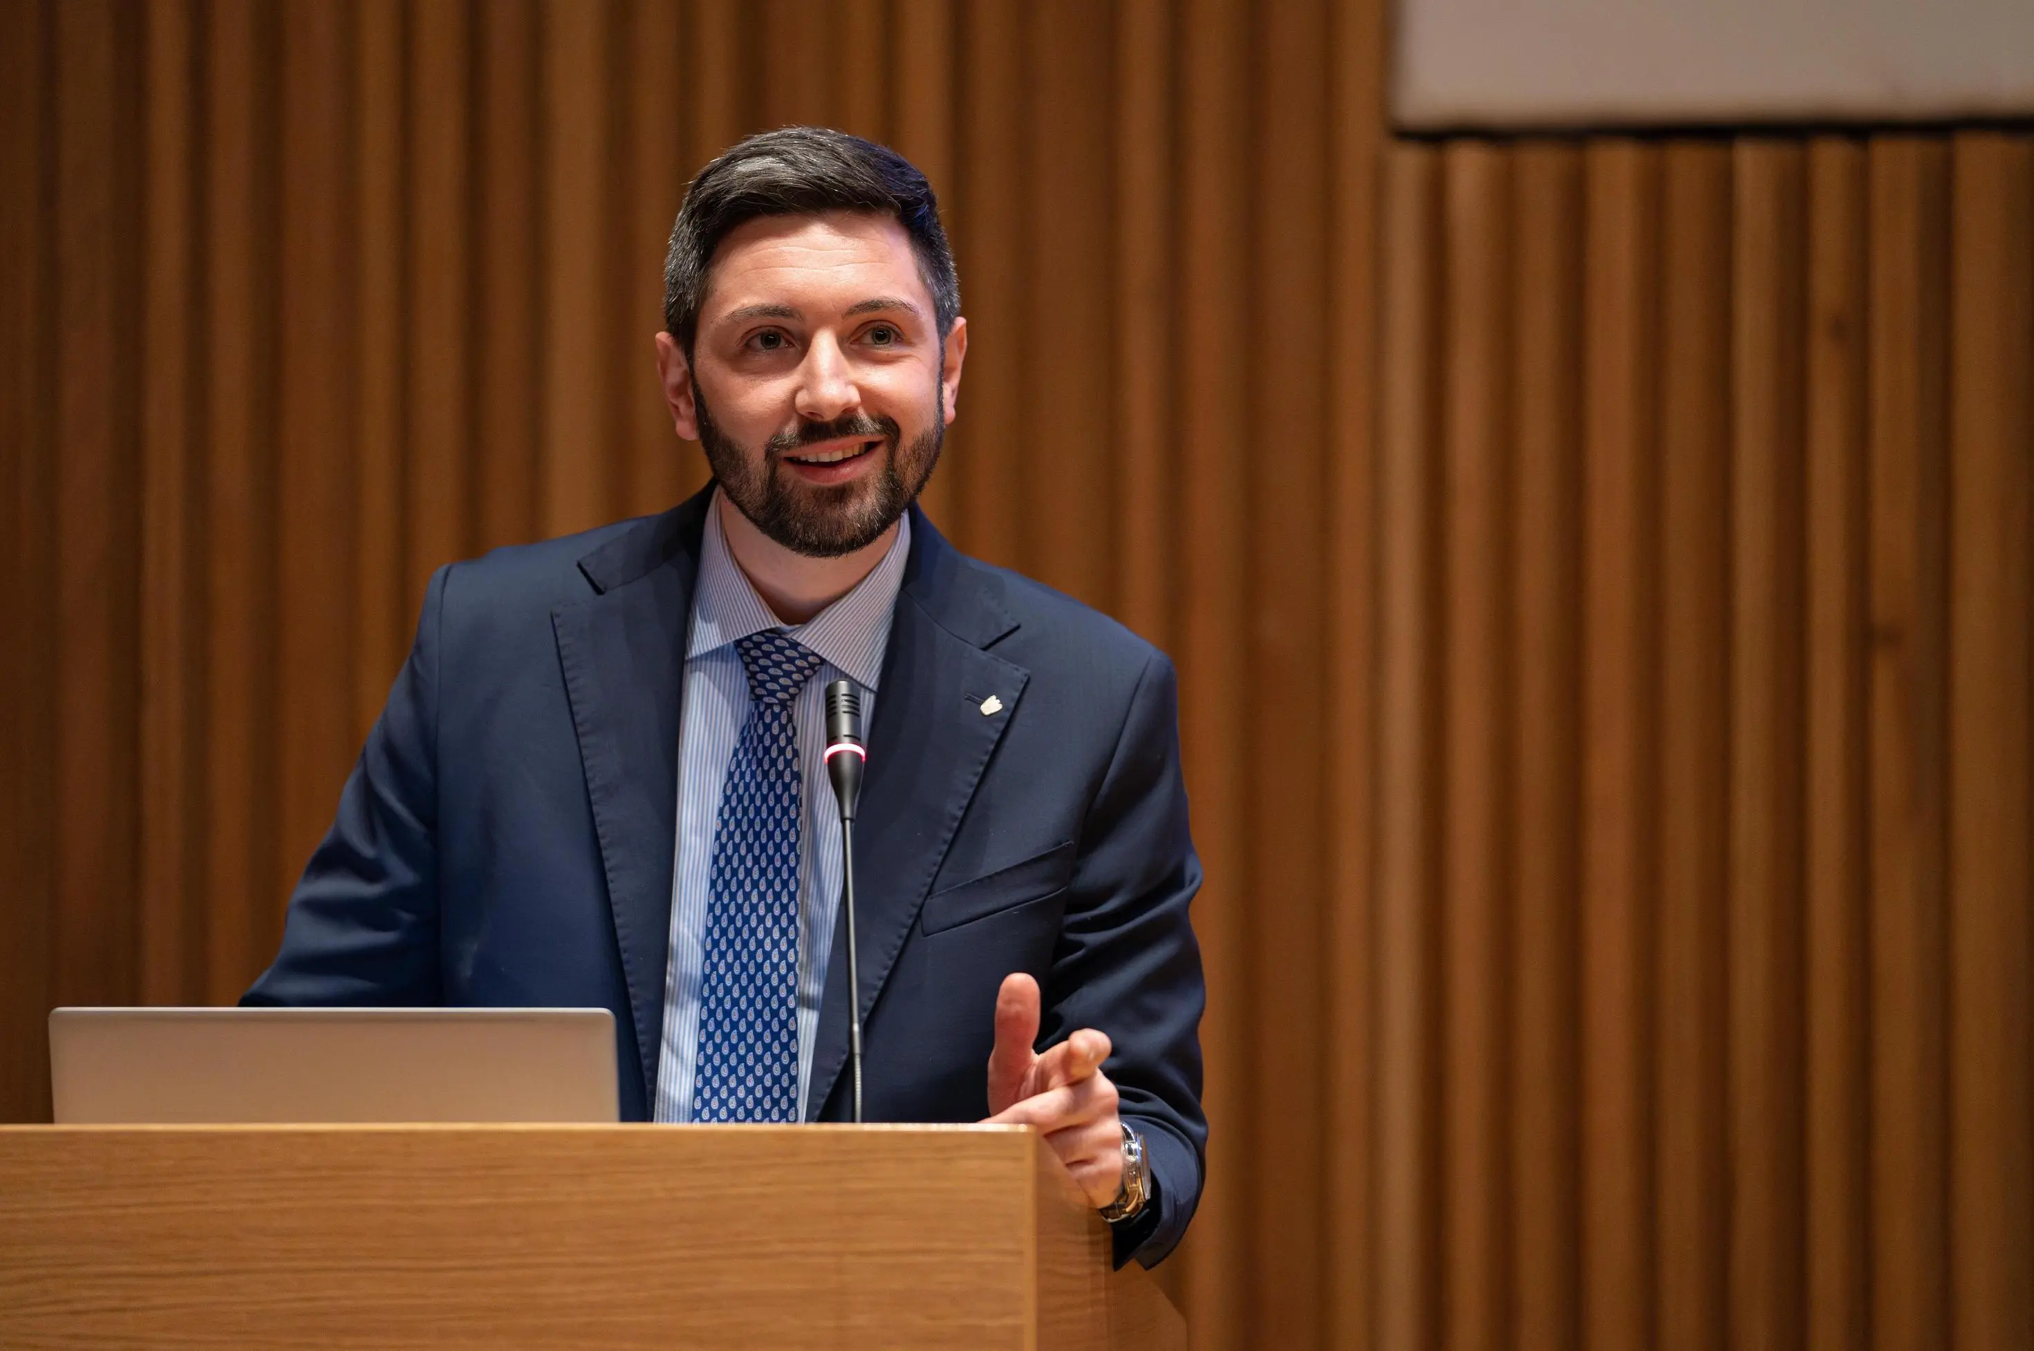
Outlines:
<svg viewBox="0 0 2034 1351"><path fill-rule="evenodd" d="M875 1007L974 785L1015 714L1029 671L984 651L1015 627L978 576L913 509L911 562L897 594L869 777L854 824L860 1009ZM989 696L1003 704L984 714ZM814 1038L805 1117L818 1119L848 1058L846 914L834 924Z"/></svg>

